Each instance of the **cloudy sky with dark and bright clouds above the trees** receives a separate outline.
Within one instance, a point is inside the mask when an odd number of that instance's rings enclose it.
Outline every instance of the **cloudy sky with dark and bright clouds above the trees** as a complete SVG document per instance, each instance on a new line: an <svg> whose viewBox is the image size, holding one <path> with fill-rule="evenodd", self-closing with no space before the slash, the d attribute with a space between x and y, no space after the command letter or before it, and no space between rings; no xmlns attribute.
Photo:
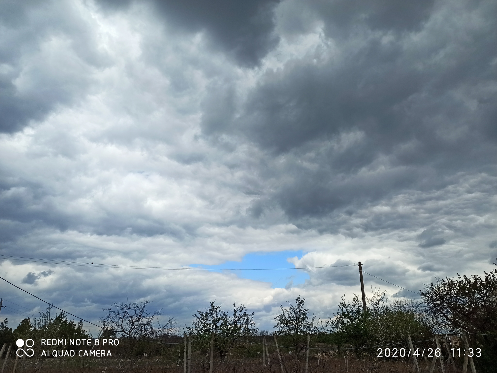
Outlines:
<svg viewBox="0 0 497 373"><path fill-rule="evenodd" d="M215 299L271 330L298 296L332 316L360 294L359 261L414 293L483 275L496 14L493 0L0 0L0 276L92 322L150 300L184 325ZM368 274L366 293L419 298ZM9 326L46 306L0 292Z"/></svg>

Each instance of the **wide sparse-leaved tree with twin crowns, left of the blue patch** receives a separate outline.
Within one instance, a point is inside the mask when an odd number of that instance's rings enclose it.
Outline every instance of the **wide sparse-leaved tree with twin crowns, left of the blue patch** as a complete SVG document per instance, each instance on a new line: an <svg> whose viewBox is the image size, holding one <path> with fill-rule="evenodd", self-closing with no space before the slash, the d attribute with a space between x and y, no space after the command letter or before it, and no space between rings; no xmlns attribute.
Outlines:
<svg viewBox="0 0 497 373"><path fill-rule="evenodd" d="M214 346L221 359L224 359L235 345L240 345L237 340L257 335L259 329L253 321L254 312L248 312L245 304L237 306L234 302L233 308L225 311L214 303L215 300L212 300L204 311L197 310L192 315L194 320L191 327L187 326L186 329L197 337L214 333ZM204 347L210 343L208 339L202 342Z"/></svg>

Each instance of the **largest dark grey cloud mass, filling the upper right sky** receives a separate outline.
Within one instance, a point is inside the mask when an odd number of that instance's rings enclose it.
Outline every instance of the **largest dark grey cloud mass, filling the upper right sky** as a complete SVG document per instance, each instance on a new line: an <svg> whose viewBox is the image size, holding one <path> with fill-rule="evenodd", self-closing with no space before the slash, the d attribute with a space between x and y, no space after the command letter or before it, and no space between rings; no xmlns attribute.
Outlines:
<svg viewBox="0 0 497 373"><path fill-rule="evenodd" d="M353 213L403 191L440 190L458 175L495 175L495 3L465 3L481 18L475 24L469 17L439 24L453 11L446 2L326 4L325 29L350 24L340 37L326 33L329 55L269 70L238 110L227 88L214 90L204 133L232 134L284 159L273 171L285 182L271 199L294 222Z"/></svg>

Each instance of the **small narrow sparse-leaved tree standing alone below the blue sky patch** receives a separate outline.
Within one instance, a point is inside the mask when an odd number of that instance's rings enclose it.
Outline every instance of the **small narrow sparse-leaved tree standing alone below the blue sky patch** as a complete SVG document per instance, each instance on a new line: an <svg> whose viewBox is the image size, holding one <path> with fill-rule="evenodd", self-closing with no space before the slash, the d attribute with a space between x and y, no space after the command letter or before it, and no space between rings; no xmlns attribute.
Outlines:
<svg viewBox="0 0 497 373"><path fill-rule="evenodd" d="M278 334L290 338L290 343L295 349L295 356L298 356L303 348L305 335L315 331L315 317L312 315L309 318L309 309L304 307L305 301L305 298L299 296L295 298L295 305L287 302L288 308L283 308L283 304L280 304L280 313L274 318L277 321L274 328Z"/></svg>

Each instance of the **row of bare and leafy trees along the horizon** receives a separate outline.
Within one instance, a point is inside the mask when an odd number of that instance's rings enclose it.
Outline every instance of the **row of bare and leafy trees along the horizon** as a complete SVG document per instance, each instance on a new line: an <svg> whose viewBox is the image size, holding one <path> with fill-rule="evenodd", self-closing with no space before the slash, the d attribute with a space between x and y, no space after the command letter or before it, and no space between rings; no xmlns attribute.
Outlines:
<svg viewBox="0 0 497 373"><path fill-rule="evenodd" d="M350 301L344 296L337 312L325 320L316 320L306 308L305 298L297 297L280 305L273 331L259 330L254 312L249 312L245 304L233 303L229 309L223 309L213 300L192 315L191 325L179 328L171 317L164 324L159 323L161 311L149 313L148 301L114 302L103 310L102 329L95 337L119 338L120 344L113 353L130 366L150 357L162 357L179 366L183 361L183 334L193 340L194 351L205 359L212 334L216 358L225 361L234 355L260 358L261 347L257 343L264 341L264 337L269 340L274 333L284 346L282 351L292 359L304 358L309 334L311 347L323 349L319 353L323 359L331 355L354 355L374 360L377 351L374 346L406 347L407 335L417 347L433 348L435 333L464 332L471 346L481 348L482 356L475 359L479 369L497 371L497 270L483 277L440 279L425 285L420 294L419 300L389 299L386 292L373 290L367 297L366 310L358 296L354 295ZM40 312L40 317L22 320L13 330L8 327L7 319L2 321L0 346L17 338L92 337L83 329L81 320L69 320L64 313L52 317L50 311L48 307ZM443 353L447 355L447 351ZM320 358L316 352L313 356Z"/></svg>

